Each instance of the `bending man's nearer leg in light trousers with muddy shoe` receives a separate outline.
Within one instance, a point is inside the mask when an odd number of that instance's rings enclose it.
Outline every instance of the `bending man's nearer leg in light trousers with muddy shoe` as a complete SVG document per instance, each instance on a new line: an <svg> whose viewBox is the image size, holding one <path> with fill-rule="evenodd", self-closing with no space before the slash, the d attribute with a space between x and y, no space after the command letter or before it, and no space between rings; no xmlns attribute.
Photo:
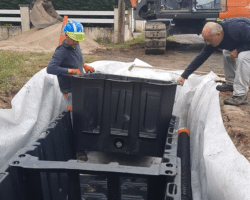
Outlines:
<svg viewBox="0 0 250 200"><path fill-rule="evenodd" d="M250 81L250 51L241 52L236 60L233 97L225 99L229 105L247 103L247 93Z"/></svg>

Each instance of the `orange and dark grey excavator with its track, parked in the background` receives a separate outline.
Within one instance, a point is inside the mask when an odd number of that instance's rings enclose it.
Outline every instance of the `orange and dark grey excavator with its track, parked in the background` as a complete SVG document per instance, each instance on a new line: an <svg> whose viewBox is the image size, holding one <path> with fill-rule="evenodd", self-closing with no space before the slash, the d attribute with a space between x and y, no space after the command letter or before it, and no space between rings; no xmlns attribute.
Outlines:
<svg viewBox="0 0 250 200"><path fill-rule="evenodd" d="M250 0L130 0L135 20L147 20L145 53L164 54L166 38L200 34L208 21L250 17Z"/></svg>

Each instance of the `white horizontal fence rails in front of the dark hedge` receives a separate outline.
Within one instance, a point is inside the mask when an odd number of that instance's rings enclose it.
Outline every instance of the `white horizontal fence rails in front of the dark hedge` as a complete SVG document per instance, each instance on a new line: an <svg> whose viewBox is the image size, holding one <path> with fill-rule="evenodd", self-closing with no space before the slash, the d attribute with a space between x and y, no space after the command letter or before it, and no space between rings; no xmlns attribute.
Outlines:
<svg viewBox="0 0 250 200"><path fill-rule="evenodd" d="M82 16L111 16L114 17L114 11L74 11L74 10L56 10L59 15L82 15ZM19 14L20 10L3 10L0 9L0 15ZM127 14L127 11L125 12ZM113 24L114 19L105 18L69 18L77 20L81 23L98 23L98 24ZM21 22L21 17L0 17L0 22Z"/></svg>

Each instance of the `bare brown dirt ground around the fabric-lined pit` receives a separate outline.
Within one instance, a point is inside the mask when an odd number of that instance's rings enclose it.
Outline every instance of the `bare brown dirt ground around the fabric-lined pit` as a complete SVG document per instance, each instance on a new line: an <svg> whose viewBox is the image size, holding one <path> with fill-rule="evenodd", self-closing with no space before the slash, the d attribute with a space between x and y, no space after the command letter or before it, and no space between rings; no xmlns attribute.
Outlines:
<svg viewBox="0 0 250 200"><path fill-rule="evenodd" d="M202 49L204 45L203 39L201 36L195 35L175 36L175 39L173 42L168 42L165 55L145 55L143 44L134 44L129 48L120 50L102 48L92 51L92 54L104 60L133 62L135 58L138 58L155 67L185 69ZM86 55L89 55L89 53ZM217 74L223 74L221 51L214 52L198 71L213 71ZM10 108L10 101L14 95L9 92L1 94L0 108ZM231 95L232 92L220 93L220 105L224 125L238 151L250 161L250 130L248 129L250 125L250 106L249 104L241 106L224 105L223 99ZM250 94L248 95L248 99L250 99Z"/></svg>

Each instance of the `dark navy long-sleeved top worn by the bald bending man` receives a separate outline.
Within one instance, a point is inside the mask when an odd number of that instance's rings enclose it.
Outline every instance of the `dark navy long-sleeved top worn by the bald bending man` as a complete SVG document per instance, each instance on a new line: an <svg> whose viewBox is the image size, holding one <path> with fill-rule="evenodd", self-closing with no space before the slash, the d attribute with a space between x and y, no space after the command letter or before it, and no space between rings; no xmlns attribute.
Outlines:
<svg viewBox="0 0 250 200"><path fill-rule="evenodd" d="M250 50L250 20L243 17L226 19L219 22L224 31L224 38L222 42L213 47L212 45L205 45L199 55L189 64L189 66L182 73L182 77L187 79L197 68L199 68L209 56L216 50L226 49L233 51L237 49L238 53Z"/></svg>

